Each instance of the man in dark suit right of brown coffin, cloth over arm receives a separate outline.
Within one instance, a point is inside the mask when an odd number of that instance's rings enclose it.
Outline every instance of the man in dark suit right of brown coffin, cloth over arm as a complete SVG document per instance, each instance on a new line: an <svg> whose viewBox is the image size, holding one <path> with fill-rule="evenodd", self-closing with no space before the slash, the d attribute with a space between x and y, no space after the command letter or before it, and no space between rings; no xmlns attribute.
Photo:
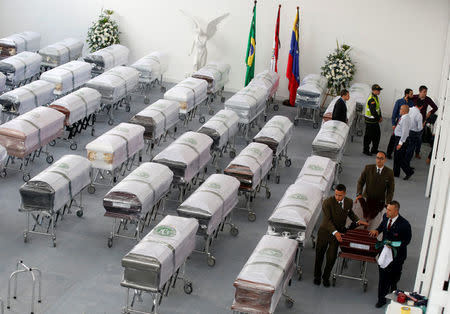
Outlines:
<svg viewBox="0 0 450 314"><path fill-rule="evenodd" d="M411 225L405 218L399 215L399 210L399 202L390 202L381 224L377 229L370 231L373 237L378 237L380 233L383 233L383 241L401 242L393 261L386 268L378 267L378 302L375 304L377 308L386 304L386 294L397 290L397 283L402 275L403 263L407 256L406 247L411 242Z"/></svg>

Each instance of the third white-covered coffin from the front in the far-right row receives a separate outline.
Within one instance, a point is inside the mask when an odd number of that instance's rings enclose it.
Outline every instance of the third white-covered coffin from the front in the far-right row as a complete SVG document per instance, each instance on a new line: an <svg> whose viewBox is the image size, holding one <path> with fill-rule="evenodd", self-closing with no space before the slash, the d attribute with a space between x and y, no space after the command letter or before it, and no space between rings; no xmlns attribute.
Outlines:
<svg viewBox="0 0 450 314"><path fill-rule="evenodd" d="M306 159L296 184L312 184L320 188L323 198L327 198L333 185L336 163L330 158L310 156Z"/></svg>

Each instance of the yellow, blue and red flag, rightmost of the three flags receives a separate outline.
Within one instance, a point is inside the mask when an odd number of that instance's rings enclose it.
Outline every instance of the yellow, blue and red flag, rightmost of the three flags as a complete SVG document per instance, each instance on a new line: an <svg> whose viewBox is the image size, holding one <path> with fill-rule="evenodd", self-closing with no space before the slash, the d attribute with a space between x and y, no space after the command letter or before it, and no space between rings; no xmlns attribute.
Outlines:
<svg viewBox="0 0 450 314"><path fill-rule="evenodd" d="M298 48L298 7L297 16L295 17L294 27L291 36L291 49L289 50L288 66L286 70L286 77L289 80L289 104L295 106L295 97L297 96L297 88L300 84L300 70L299 70L299 48Z"/></svg>

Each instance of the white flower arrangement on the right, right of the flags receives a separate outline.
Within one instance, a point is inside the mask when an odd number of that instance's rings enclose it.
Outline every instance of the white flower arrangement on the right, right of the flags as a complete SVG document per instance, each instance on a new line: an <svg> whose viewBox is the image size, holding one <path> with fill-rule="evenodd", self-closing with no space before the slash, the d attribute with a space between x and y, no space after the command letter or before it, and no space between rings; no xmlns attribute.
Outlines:
<svg viewBox="0 0 450 314"><path fill-rule="evenodd" d="M325 65L321 68L321 74L328 80L328 88L334 94L347 88L355 75L356 67L350 58L350 50L350 46L339 46L337 43L337 48L327 56Z"/></svg>

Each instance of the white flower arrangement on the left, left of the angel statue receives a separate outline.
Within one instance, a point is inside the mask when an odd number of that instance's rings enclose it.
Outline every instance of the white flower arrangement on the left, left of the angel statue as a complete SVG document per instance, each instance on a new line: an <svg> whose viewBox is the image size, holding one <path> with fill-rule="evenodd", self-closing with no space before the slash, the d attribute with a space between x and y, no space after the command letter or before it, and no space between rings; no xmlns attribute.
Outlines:
<svg viewBox="0 0 450 314"><path fill-rule="evenodd" d="M113 13L112 10L102 10L98 20L89 28L86 42L91 52L112 44L120 44L119 25L111 18Z"/></svg>

